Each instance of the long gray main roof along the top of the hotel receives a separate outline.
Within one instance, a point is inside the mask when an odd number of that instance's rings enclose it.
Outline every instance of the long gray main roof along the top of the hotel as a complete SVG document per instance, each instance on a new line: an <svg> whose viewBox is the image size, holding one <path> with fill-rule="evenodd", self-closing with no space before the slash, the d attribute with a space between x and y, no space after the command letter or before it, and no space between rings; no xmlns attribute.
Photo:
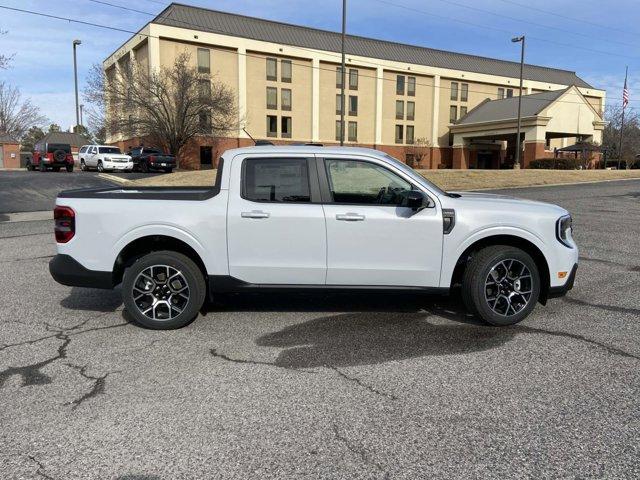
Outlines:
<svg viewBox="0 0 640 480"><path fill-rule="evenodd" d="M337 53L341 51L341 35L337 32L274 22L180 3L172 3L169 5L152 20L152 23L250 38L282 45L293 45L296 47L313 48ZM511 78L520 77L520 64L518 62L447 52L374 38L347 35L345 50L347 54L369 58L450 68L488 75L502 75ZM575 72L537 65L525 65L524 78L560 85L577 85L579 87L593 88L578 77Z"/></svg>

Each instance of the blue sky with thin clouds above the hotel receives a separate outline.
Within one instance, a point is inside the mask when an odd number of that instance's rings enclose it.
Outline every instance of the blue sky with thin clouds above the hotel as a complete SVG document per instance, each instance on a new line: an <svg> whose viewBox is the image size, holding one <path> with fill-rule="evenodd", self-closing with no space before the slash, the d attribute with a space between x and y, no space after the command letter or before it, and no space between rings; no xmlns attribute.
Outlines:
<svg viewBox="0 0 640 480"><path fill-rule="evenodd" d="M133 8L135 13L116 6ZM181 3L339 31L341 0L182 0ZM161 0L0 0L0 53L14 54L0 80L16 85L49 122L75 124L72 41L83 88L130 35L6 10L13 7L137 31L169 2ZM147 14L148 13L148 14ZM348 0L347 32L424 47L572 70L620 104L629 67L631 108L640 108L640 8L637 0ZM80 101L82 102L82 99Z"/></svg>

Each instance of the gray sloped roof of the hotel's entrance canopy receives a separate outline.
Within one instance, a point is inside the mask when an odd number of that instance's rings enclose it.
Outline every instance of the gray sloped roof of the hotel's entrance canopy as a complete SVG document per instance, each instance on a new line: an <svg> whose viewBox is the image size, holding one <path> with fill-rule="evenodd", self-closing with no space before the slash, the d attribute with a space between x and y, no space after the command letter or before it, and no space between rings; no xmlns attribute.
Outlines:
<svg viewBox="0 0 640 480"><path fill-rule="evenodd" d="M571 87L551 92L534 93L522 96L522 117L534 117L542 110L555 102L560 95ZM456 122L456 125L470 123L492 122L497 120L512 120L518 118L518 97L504 98L502 100L485 100L480 105L470 110L464 117Z"/></svg>

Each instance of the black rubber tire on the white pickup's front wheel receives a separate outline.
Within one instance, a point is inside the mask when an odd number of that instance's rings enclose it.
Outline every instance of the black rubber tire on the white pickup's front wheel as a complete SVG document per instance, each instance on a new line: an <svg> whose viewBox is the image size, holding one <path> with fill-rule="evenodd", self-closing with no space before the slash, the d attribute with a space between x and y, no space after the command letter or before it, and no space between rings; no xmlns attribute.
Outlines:
<svg viewBox="0 0 640 480"><path fill-rule="evenodd" d="M515 307L506 307L506 310L499 307L498 310L503 311L496 312L487 299L487 294L488 292L492 292L492 289L503 288L503 286L498 285L498 283L496 283L495 286L487 285L486 282L494 266L502 261L505 261L505 266L511 265L509 264L511 260L514 260L517 266L524 265L529 270L530 280L523 277L519 282L526 286L520 287L519 283L518 289L522 291L525 291L525 289L530 290L531 293L524 306L522 306L522 302L525 296L514 295L513 297L509 297L508 302L510 305L513 300L516 303ZM514 269L515 268L516 267L514 267ZM508 290L509 286L507 285L506 288ZM502 306L506 306L507 300L505 296L501 296L503 300L500 300L499 303ZM535 308L539 296L540 274L535 261L525 251L508 245L495 245L477 252L469 261L462 279L462 298L467 309L491 325L514 325L524 320ZM493 304L494 307L496 303ZM506 314L505 312L509 313Z"/></svg>

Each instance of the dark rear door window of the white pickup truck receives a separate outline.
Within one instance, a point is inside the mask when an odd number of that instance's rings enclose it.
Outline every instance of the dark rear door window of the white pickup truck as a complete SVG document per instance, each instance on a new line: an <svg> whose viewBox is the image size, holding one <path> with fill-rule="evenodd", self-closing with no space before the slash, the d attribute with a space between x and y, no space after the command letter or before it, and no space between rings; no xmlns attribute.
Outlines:
<svg viewBox="0 0 640 480"><path fill-rule="evenodd" d="M247 159L242 197L253 202L311 202L306 158Z"/></svg>

